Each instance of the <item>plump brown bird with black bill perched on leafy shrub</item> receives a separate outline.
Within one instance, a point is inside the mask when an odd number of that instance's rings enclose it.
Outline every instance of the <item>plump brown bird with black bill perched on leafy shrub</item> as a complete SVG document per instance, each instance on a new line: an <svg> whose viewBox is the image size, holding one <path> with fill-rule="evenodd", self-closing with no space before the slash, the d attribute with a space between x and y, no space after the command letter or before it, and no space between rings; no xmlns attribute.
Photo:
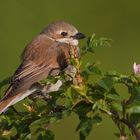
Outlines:
<svg viewBox="0 0 140 140"><path fill-rule="evenodd" d="M70 47L78 48L79 39L83 38L83 33L65 21L56 21L45 27L25 46L21 64L0 100L0 114L34 94L37 89L32 86L35 83L47 78L56 69L63 71L70 63Z"/></svg>

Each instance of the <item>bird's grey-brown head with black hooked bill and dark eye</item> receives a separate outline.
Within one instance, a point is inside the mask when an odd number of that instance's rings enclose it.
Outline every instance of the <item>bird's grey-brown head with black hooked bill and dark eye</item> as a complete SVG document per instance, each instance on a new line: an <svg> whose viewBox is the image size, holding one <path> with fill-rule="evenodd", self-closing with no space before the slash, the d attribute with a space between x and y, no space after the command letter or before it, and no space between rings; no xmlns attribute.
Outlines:
<svg viewBox="0 0 140 140"><path fill-rule="evenodd" d="M83 33L78 32L73 25L64 21L58 21L50 24L42 31L42 33L46 34L49 38L55 41L74 46L78 45L79 39L85 38Z"/></svg>

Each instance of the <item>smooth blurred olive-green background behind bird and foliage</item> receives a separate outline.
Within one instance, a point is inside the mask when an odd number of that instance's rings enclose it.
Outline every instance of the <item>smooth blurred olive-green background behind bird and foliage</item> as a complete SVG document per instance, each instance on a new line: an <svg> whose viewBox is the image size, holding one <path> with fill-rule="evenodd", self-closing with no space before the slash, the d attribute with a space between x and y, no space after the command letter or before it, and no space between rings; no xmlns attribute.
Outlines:
<svg viewBox="0 0 140 140"><path fill-rule="evenodd" d="M139 0L0 0L0 80L15 71L25 45L57 20L74 24L87 36L94 32L114 40L94 56L104 70L129 74L133 62L140 63ZM117 140L117 128L105 116L103 120L87 140ZM56 140L77 140L77 123L73 115L54 124Z"/></svg>

